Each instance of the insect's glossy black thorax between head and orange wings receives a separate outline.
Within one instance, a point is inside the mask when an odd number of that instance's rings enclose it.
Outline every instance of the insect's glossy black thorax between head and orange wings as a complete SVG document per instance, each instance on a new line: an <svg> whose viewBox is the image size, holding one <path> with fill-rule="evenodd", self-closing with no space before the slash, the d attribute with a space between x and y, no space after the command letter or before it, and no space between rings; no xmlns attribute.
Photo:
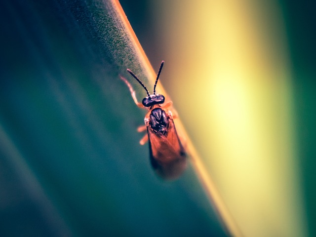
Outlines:
<svg viewBox="0 0 316 237"><path fill-rule="evenodd" d="M149 124L156 132L162 133L163 135L167 132L167 125L169 118L166 112L160 108L153 109L150 114Z"/></svg>

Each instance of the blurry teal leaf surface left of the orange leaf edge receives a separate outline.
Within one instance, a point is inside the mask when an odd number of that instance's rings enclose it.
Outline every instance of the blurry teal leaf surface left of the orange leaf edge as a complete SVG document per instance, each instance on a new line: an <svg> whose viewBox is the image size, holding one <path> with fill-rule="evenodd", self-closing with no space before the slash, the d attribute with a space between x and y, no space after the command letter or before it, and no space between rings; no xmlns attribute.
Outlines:
<svg viewBox="0 0 316 237"><path fill-rule="evenodd" d="M145 111L119 75L142 65L116 14L0 2L1 237L226 236L191 166L165 182L139 145Z"/></svg>

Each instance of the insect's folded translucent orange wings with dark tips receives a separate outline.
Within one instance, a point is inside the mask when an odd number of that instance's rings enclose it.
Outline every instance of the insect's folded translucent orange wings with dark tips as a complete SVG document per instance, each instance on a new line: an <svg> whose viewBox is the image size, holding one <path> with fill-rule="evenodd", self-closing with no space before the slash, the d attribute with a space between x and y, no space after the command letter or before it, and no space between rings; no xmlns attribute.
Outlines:
<svg viewBox="0 0 316 237"><path fill-rule="evenodd" d="M178 137L174 122L169 116L167 133L165 135L155 132L147 125L150 160L162 178L175 179L187 167L186 154Z"/></svg>

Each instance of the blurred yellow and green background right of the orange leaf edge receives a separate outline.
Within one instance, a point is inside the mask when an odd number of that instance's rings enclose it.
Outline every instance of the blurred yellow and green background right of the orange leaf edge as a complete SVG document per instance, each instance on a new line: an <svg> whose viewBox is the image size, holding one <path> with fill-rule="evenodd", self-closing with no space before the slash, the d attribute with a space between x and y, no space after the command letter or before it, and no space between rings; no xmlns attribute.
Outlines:
<svg viewBox="0 0 316 237"><path fill-rule="evenodd" d="M316 3L138 2L121 1L241 232L315 236Z"/></svg>

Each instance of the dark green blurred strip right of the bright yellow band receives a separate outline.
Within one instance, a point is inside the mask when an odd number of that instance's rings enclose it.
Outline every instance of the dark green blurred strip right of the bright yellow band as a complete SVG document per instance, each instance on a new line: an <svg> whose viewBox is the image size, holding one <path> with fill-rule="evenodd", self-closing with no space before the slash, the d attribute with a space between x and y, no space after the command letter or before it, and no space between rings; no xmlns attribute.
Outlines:
<svg viewBox="0 0 316 237"><path fill-rule="evenodd" d="M281 1L290 49L295 132L309 236L316 236L316 1Z"/></svg>

